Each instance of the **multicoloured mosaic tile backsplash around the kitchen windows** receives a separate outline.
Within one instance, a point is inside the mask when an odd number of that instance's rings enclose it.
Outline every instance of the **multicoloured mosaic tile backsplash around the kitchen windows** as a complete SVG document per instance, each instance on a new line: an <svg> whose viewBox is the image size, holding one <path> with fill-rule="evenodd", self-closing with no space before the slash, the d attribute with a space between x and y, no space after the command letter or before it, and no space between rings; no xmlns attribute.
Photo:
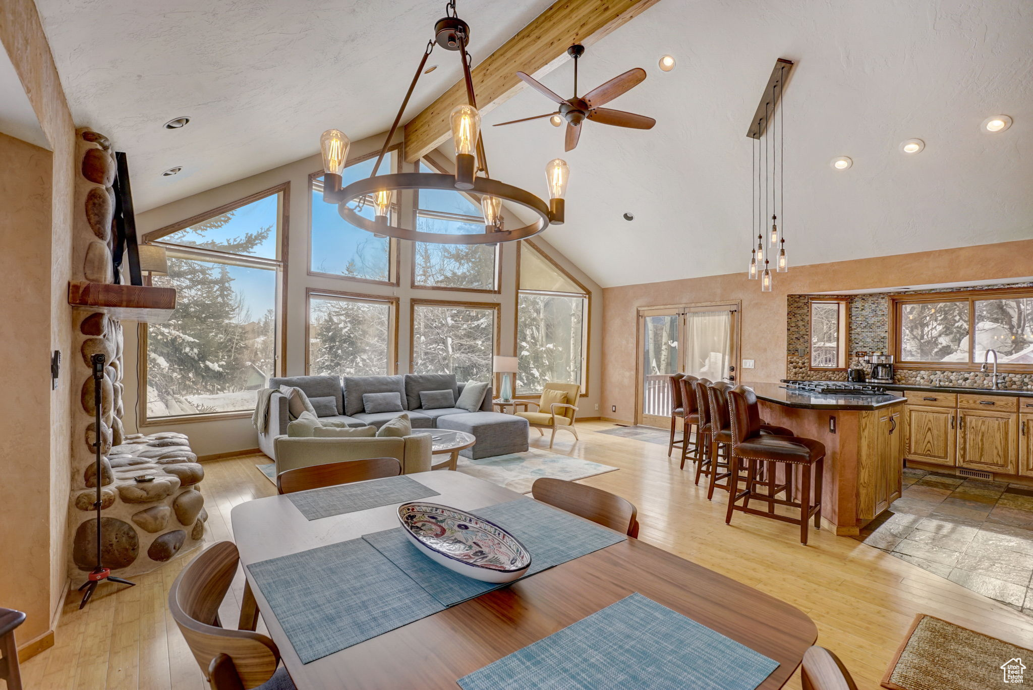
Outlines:
<svg viewBox="0 0 1033 690"><path fill-rule="evenodd" d="M1029 287L1033 283L1009 285L980 285L968 289L984 290L994 287ZM963 292L965 288L946 288L941 290L924 290L924 292ZM822 300L845 300L850 303L848 325L849 351L865 350L867 352L889 349L889 296L906 294L907 291L876 292L873 294L822 294ZM811 370L808 338L808 303L812 296L808 294L790 294L787 300L787 344L786 378L808 381L845 381L845 371ZM866 370L868 367L866 366ZM1003 374L1005 376L1002 388L1012 390L1033 389L1033 374ZM896 383L912 385L970 386L973 388L991 387L991 375L981 372L957 372L925 369L896 369Z"/></svg>

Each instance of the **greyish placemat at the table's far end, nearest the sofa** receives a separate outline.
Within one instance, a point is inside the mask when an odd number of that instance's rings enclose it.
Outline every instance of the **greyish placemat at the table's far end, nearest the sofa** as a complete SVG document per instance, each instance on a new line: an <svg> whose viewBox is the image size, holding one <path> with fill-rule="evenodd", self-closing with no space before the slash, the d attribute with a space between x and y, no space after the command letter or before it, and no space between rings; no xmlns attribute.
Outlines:
<svg viewBox="0 0 1033 690"><path fill-rule="evenodd" d="M345 512L379 508L382 505L418 501L421 498L438 495L433 489L403 474L397 477L300 491L287 494L287 498L308 520L318 520Z"/></svg>

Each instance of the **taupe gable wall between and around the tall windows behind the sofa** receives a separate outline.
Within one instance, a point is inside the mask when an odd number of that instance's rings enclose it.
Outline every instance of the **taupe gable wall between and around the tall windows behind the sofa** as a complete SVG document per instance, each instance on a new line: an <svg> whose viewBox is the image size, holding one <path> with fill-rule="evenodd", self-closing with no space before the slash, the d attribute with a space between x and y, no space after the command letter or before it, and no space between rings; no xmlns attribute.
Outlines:
<svg viewBox="0 0 1033 690"><path fill-rule="evenodd" d="M313 139L315 142L315 139ZM361 158L379 150L383 144L383 134L372 136L351 145L349 156ZM486 292L465 292L460 290L428 290L414 289L407 286L407 277L411 273L413 251L412 244L401 243L400 273L401 285L375 285L347 278L308 275L309 262L309 175L322 167L322 159L316 156L303 158L258 175L237 182L216 187L193 196L151 209L136 215L136 228L139 234L164 227L165 225L190 218L191 216L216 209L222 205L243 198L255 192L275 187L284 182L290 182L290 218L288 229L287 251L287 357L286 373L298 376L305 373L305 290L307 287L359 292L365 294L393 295L401 300L399 311L399 344L398 371L409 371L409 309L412 299L424 300L455 300L467 302L497 303L501 308L501 330L499 353L512 354L515 332L515 300L516 300L516 250L514 244L503 245L502 292L491 294ZM592 291L592 326L589 343L589 395L582 398L581 416L596 416L595 410L599 402L601 388L602 359L602 288L599 287L583 271L569 259L557 252L549 243L535 239L536 244L547 252L558 263L569 271L577 280ZM145 401L137 400L138 347L136 330L128 324L125 330L125 425L126 433L137 431L136 422L143 419ZM190 421L176 425L148 426L139 430L143 433L159 431L177 431L190 437L190 445L194 452L209 456L234 450L256 448L257 438L251 427L250 416L247 418L223 419L213 421Z"/></svg>

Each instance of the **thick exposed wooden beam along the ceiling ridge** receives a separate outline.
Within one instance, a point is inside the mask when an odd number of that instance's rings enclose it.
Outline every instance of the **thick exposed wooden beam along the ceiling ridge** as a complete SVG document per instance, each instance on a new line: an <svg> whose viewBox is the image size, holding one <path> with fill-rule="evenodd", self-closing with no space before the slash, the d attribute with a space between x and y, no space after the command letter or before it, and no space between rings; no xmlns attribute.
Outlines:
<svg viewBox="0 0 1033 690"><path fill-rule="evenodd" d="M523 89L516 70L536 79L547 74L569 59L572 43L591 45L658 1L557 0L472 70L477 109L488 113ZM466 87L460 80L418 113L405 126L405 160L413 163L447 139L448 115L465 102Z"/></svg>

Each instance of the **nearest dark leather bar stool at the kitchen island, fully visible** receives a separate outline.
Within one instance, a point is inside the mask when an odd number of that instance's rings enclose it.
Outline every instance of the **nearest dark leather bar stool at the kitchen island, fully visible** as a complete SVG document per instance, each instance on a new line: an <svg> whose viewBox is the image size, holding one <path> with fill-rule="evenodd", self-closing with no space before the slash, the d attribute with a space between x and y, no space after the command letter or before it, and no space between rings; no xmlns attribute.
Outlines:
<svg viewBox="0 0 1033 690"><path fill-rule="evenodd" d="M728 407L731 416L731 460L729 463L731 488L728 492L728 510L724 522L731 524L731 515L735 510L748 512L751 515L771 518L784 523L800 525L800 543L807 544L807 528L811 518L814 518L815 529L821 529L821 480L822 460L825 457L825 446L820 441L799 436L774 436L760 433L760 412L757 397L752 388L738 385L728 390ZM739 491L739 470L746 464L746 491ZM757 491L764 482L757 480L757 468L763 463L768 476L776 476L776 465L783 465L786 473L799 467L801 472L800 500L793 501L791 492L786 491L786 498L777 498L777 493ZM814 504L811 504L811 479L814 479ZM774 479L772 480L774 481ZM768 503L768 510L757 510L750 507L750 500ZM744 501L740 505L740 501ZM789 518L775 512L776 505L785 505L800 509L800 518Z"/></svg>

